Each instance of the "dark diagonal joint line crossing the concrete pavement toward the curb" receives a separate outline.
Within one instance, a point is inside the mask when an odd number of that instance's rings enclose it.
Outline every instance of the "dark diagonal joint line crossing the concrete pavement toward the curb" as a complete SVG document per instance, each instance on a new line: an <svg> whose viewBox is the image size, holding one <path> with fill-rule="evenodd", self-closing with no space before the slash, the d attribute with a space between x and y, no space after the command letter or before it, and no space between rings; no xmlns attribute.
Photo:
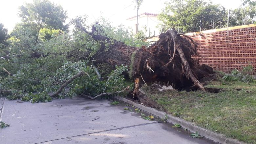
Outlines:
<svg viewBox="0 0 256 144"><path fill-rule="evenodd" d="M43 142L37 142L37 143L33 143L33 144L40 144L40 143L44 143L44 142L50 142L50 141L55 141L55 140L60 140L60 139L66 139L66 138L70 138L70 137L83 136L83 135L89 135L89 134L97 134L97 133L102 133L102 132L109 132L109 131L115 131L115 130L119 130L119 129L126 129L126 128L132 128L132 127L137 127L137 126L145 126L145 125L156 124L156 123L161 123L161 122L143 123L143 124L139 124L139 125L126 126L126 127L121 127L121 128L116 128L116 129L109 129L109 130L98 131L98 132L93 132L93 133L73 135L73 136L68 136L68 137L63 137L63 138L43 141Z"/></svg>

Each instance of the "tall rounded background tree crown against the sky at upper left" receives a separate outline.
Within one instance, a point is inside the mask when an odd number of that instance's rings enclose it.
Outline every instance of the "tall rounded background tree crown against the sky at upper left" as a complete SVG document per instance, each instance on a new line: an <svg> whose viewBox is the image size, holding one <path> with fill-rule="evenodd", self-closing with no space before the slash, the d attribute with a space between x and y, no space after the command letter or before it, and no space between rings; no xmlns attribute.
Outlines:
<svg viewBox="0 0 256 144"><path fill-rule="evenodd" d="M34 0L33 3L25 3L19 7L18 16L22 22L36 24L39 29L60 29L62 31L68 29L68 25L64 24L67 19L67 11L61 5L54 4L49 0Z"/></svg>

